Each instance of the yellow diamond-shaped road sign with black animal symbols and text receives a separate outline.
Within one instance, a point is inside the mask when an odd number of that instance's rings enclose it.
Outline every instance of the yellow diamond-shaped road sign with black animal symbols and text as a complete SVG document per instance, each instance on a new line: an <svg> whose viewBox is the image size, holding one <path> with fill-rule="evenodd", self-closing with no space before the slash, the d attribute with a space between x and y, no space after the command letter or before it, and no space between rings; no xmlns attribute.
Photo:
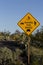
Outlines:
<svg viewBox="0 0 43 65"><path fill-rule="evenodd" d="M30 13L27 13L17 24L28 35L40 25Z"/></svg>

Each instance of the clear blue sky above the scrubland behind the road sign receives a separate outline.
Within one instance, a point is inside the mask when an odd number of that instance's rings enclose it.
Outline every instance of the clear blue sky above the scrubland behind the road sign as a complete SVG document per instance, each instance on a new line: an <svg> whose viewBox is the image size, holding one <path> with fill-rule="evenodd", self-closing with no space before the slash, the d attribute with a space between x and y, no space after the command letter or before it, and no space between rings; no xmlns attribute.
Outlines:
<svg viewBox="0 0 43 65"><path fill-rule="evenodd" d="M0 0L0 31L22 31L17 22L27 12L43 26L43 0Z"/></svg>

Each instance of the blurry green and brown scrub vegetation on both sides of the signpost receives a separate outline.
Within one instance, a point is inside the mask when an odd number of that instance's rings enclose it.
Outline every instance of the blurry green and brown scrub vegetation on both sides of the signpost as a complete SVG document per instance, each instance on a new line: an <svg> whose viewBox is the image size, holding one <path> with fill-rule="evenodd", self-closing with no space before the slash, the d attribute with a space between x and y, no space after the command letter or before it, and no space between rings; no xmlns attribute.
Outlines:
<svg viewBox="0 0 43 65"><path fill-rule="evenodd" d="M0 65L28 65L28 38L19 30L12 34L9 31L0 32ZM31 34L30 38L30 65L43 65L43 26ZM12 41L12 43L6 45L1 41Z"/></svg>

